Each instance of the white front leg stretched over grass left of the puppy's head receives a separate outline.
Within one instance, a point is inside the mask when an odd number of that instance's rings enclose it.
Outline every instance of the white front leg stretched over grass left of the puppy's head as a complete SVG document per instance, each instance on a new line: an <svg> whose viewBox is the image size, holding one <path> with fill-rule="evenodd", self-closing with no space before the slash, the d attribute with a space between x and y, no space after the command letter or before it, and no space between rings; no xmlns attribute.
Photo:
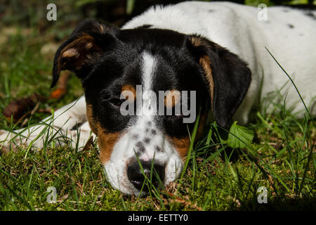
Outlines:
<svg viewBox="0 0 316 225"><path fill-rule="evenodd" d="M8 151L18 145L43 148L53 142L55 146L67 143L80 148L88 141L90 134L91 129L86 122L86 101L82 96L33 127L15 131L1 130L0 149Z"/></svg>

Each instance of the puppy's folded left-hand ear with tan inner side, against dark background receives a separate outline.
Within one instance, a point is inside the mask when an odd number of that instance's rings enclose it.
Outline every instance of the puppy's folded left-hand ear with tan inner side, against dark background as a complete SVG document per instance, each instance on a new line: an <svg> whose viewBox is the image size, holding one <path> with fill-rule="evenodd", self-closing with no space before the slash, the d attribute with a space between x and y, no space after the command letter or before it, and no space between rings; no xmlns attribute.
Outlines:
<svg viewBox="0 0 316 225"><path fill-rule="evenodd" d="M58 82L61 70L70 70L79 78L88 75L107 46L114 43L117 31L115 27L94 20L79 23L55 54L51 87Z"/></svg>

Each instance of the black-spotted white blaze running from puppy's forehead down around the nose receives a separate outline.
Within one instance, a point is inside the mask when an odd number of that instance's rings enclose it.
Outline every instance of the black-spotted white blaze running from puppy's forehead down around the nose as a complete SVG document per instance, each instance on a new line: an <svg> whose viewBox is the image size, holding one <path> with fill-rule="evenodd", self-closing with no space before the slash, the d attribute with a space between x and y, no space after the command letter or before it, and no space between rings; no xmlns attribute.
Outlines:
<svg viewBox="0 0 316 225"><path fill-rule="evenodd" d="M114 145L110 160L105 163L107 178L114 188L123 193L138 195L139 191L131 184L126 176L128 162L136 159L158 162L166 165L164 185L170 183L180 175L182 161L171 143L154 123L156 103L154 96L148 94L152 90L152 74L155 69L155 58L149 53L143 53L143 95L142 113L137 116L135 124L127 126L129 129L119 137ZM140 149L141 148L141 149Z"/></svg>

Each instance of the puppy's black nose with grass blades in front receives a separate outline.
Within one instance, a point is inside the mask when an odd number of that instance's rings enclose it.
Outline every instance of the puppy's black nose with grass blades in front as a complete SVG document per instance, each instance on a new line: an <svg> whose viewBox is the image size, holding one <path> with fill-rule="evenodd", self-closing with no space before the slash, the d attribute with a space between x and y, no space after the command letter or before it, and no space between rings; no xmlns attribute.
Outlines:
<svg viewBox="0 0 316 225"><path fill-rule="evenodd" d="M152 162L145 162L142 160L140 160L140 163L143 167L143 172L140 168L138 161L132 162L127 167L127 177L129 178L129 181L131 181L131 184L133 184L135 188L137 188L139 191L141 190L141 188L143 187L143 183L145 181L145 176L147 176L148 180L151 181L151 184L153 186L157 187L159 183L164 183L163 165L160 165L159 163L154 163L154 165L152 165ZM159 178L157 176L159 176ZM150 182L148 182L147 184L150 184ZM143 191L148 191L148 187L146 184L144 185Z"/></svg>

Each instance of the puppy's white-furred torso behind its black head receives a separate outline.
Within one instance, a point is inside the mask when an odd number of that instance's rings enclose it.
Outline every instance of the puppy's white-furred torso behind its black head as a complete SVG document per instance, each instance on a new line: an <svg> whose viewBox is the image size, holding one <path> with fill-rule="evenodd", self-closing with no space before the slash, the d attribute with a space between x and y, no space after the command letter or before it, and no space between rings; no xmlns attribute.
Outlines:
<svg viewBox="0 0 316 225"><path fill-rule="evenodd" d="M316 19L305 15L302 10L269 7L268 20L260 21L258 9L252 6L230 2L183 2L165 8L150 8L123 28L142 25L183 34L200 34L246 61L251 70L251 86L233 118L243 124L248 121L249 110L258 101L263 74L261 96L289 82L265 47L292 77L305 103L310 103L316 96ZM298 117L303 117L303 104L294 86L288 84L282 93L287 93L286 105L296 104L293 113L299 112ZM315 115L316 110L312 113Z"/></svg>

